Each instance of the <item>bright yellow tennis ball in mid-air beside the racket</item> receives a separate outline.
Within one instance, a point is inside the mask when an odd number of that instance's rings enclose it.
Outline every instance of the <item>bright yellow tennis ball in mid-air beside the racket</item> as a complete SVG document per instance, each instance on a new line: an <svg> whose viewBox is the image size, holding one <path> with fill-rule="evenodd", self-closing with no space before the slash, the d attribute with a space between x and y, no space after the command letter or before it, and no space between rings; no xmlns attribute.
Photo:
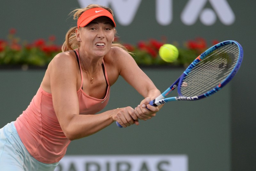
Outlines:
<svg viewBox="0 0 256 171"><path fill-rule="evenodd" d="M164 44L159 49L159 56L165 62L174 62L179 56L179 51L175 46L171 44Z"/></svg>

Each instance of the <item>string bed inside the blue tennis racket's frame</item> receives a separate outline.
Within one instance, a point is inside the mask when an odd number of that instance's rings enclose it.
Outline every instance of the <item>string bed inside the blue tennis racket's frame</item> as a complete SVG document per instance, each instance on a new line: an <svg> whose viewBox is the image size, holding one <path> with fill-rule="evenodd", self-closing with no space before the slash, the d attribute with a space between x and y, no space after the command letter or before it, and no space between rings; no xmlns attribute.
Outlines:
<svg viewBox="0 0 256 171"><path fill-rule="evenodd" d="M239 48L229 44L208 54L185 77L187 87L180 87L183 96L199 96L219 85L236 66Z"/></svg>

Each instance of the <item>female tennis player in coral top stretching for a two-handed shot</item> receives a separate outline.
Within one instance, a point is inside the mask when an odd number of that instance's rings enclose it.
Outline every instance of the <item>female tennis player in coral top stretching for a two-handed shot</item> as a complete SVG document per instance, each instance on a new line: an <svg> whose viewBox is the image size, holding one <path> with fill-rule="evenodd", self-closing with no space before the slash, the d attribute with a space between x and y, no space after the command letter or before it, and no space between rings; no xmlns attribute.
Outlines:
<svg viewBox="0 0 256 171"><path fill-rule="evenodd" d="M4 171L54 170L70 141L90 136L117 121L123 127L148 120L160 107L149 101L160 91L121 44L114 44L111 9L89 5L73 11L62 53L49 64L28 108L0 130L0 168ZM145 97L136 108L97 115L121 75ZM150 110L148 110L150 109Z"/></svg>

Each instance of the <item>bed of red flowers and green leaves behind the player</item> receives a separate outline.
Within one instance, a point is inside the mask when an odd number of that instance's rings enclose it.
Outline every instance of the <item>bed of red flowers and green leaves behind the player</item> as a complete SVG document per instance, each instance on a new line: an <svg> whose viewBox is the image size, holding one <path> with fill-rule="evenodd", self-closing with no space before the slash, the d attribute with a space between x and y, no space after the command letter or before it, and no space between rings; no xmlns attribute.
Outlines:
<svg viewBox="0 0 256 171"><path fill-rule="evenodd" d="M48 40L37 39L32 43L21 41L15 36L16 30L10 29L7 40L0 39L0 65L23 65L23 66L40 66L45 67L52 58L61 52L61 45L56 45L55 36L50 36ZM118 38L115 42L120 42ZM164 62L159 54L159 48L170 43L176 46L179 50L179 57L173 63ZM218 41L212 41L212 45ZM169 42L165 37L158 41L149 39L147 41L139 41L136 45L122 43L129 52L134 55L136 63L141 66L187 66L206 48L208 48L205 39L196 38L188 40L182 46L177 42Z"/></svg>

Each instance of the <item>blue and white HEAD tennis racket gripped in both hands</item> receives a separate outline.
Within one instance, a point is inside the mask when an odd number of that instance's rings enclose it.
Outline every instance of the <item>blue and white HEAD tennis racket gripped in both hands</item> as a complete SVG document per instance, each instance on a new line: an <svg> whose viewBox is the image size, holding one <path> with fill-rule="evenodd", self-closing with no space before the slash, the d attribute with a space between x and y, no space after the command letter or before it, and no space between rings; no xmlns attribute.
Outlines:
<svg viewBox="0 0 256 171"><path fill-rule="evenodd" d="M236 75L243 48L236 41L223 41L199 55L161 95L149 102L159 106L175 100L199 100L218 92ZM177 97L166 96L178 87ZM122 126L117 123L117 126Z"/></svg>

